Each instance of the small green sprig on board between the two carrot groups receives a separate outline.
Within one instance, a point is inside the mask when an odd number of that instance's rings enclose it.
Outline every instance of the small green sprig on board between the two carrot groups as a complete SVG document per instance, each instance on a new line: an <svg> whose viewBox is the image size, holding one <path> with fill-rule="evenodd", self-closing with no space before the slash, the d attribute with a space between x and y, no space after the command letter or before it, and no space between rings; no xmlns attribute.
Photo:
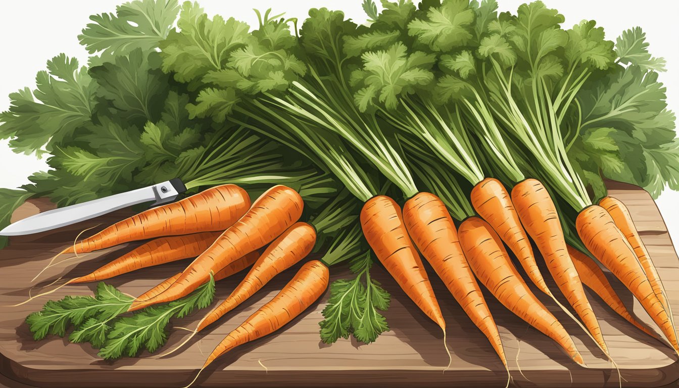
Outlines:
<svg viewBox="0 0 679 388"><path fill-rule="evenodd" d="M379 311L389 308L389 294L378 281L371 279L372 260L369 253L352 260L351 271L354 279L333 281L330 285L330 299L323 308L320 321L320 338L331 344L338 338L349 338L353 334L357 340L373 342L389 330L384 316Z"/></svg>

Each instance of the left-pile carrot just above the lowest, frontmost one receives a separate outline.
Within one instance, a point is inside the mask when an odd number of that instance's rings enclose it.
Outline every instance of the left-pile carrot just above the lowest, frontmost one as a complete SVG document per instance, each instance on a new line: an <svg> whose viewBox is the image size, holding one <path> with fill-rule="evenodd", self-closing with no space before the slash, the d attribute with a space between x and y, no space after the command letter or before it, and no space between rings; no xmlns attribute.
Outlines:
<svg viewBox="0 0 679 388"><path fill-rule="evenodd" d="M311 252L315 243L316 230L306 222L297 222L297 224L288 228L285 233L281 234L267 247L231 295L198 323L196 332L200 332L207 325L217 321L224 314L232 311L236 306L253 296L274 276L297 264L299 260L305 258Z"/></svg>

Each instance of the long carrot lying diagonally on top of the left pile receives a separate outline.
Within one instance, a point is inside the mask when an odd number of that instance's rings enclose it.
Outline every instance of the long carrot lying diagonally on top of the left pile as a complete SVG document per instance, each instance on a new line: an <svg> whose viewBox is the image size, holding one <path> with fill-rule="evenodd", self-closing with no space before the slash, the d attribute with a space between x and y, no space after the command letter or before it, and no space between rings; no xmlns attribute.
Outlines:
<svg viewBox="0 0 679 388"><path fill-rule="evenodd" d="M162 294L145 301L135 301L129 311L151 304L187 296L217 272L246 253L267 245L301 217L304 201L295 190L274 186L261 194L238 222L225 230Z"/></svg>

